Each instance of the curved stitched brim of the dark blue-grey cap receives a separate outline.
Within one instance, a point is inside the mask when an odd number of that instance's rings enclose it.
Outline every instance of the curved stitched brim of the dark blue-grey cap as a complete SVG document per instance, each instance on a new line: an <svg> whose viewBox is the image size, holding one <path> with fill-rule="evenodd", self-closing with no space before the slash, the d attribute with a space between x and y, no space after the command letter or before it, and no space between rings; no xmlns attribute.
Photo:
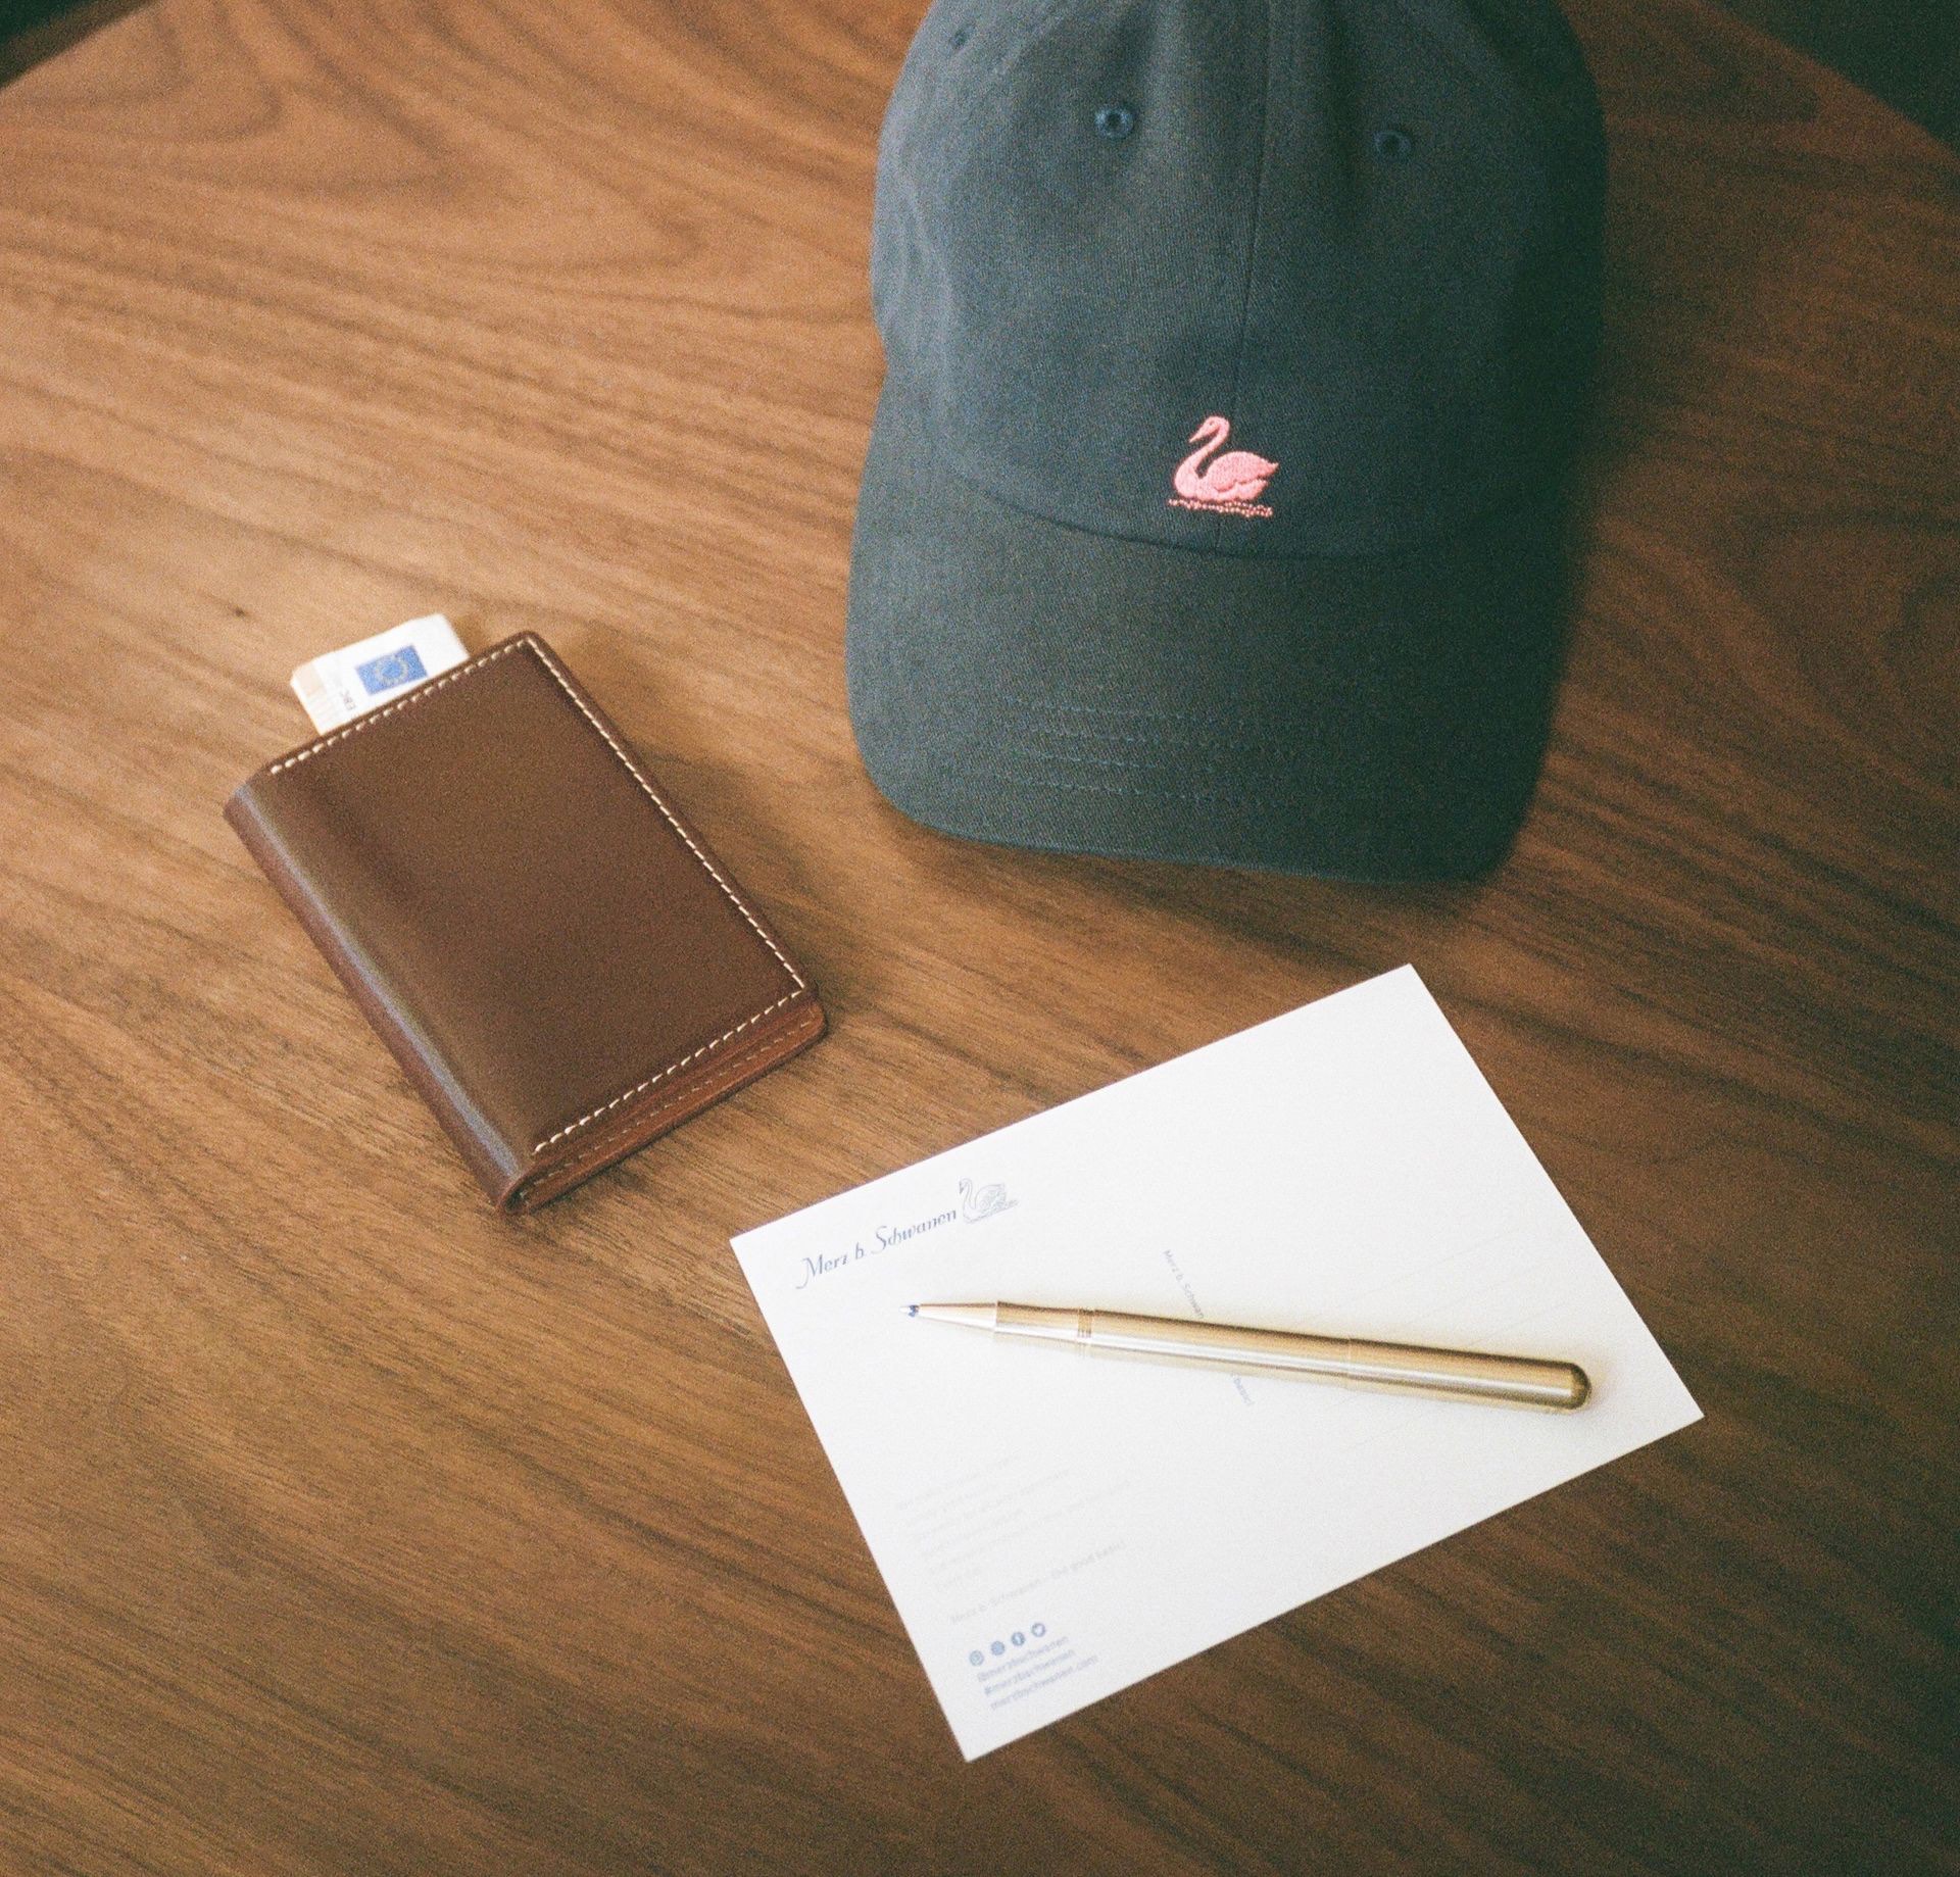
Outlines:
<svg viewBox="0 0 1960 1877"><path fill-rule="evenodd" d="M1092 535L955 474L888 380L851 562L858 750L894 807L974 841L1480 874L1544 748L1562 533L1543 492L1394 554Z"/></svg>

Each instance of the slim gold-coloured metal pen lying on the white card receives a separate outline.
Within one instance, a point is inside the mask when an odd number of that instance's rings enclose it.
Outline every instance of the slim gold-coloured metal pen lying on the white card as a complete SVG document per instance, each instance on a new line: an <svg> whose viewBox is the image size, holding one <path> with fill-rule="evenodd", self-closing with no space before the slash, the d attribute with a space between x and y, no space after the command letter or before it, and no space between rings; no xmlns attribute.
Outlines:
<svg viewBox="0 0 1960 1877"><path fill-rule="evenodd" d="M1127 1311L1070 1311L1031 1303L913 1303L913 1317L958 1323L998 1336L1058 1342L1092 1356L1141 1356L1151 1362L1229 1370L1270 1370L1347 1387L1495 1401L1511 1407L1576 1409L1592 1383L1572 1362L1535 1356L1486 1356L1431 1350L1409 1342L1358 1336L1307 1336L1298 1330L1250 1330L1178 1317L1133 1317Z"/></svg>

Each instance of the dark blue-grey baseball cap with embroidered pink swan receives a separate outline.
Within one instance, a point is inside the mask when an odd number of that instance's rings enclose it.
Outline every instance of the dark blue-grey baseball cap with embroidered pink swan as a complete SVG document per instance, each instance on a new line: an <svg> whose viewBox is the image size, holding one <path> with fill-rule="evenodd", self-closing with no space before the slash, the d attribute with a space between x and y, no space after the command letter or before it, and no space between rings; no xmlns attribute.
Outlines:
<svg viewBox="0 0 1960 1877"><path fill-rule="evenodd" d="M1603 190L1548 0L937 0L872 239L847 672L882 794L1017 846L1499 860Z"/></svg>

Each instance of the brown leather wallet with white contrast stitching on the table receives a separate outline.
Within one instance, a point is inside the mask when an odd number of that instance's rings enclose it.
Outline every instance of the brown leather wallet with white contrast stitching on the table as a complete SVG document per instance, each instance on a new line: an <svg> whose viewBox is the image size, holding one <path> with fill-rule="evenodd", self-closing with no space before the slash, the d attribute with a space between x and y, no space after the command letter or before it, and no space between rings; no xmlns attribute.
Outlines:
<svg viewBox="0 0 1960 1877"><path fill-rule="evenodd" d="M823 1035L535 633L269 762L225 819L494 1205L555 1199Z"/></svg>

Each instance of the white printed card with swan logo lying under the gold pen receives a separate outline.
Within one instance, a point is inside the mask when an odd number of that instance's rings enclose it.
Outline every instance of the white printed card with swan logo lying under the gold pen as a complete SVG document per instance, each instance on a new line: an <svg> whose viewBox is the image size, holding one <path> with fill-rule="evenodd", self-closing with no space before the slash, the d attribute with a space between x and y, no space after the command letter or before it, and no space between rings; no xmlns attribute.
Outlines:
<svg viewBox="0 0 1960 1877"><path fill-rule="evenodd" d="M972 1759L1699 1419L1411 968L735 1240ZM1552 1415L1084 1358L1049 1303L1578 1362Z"/></svg>

